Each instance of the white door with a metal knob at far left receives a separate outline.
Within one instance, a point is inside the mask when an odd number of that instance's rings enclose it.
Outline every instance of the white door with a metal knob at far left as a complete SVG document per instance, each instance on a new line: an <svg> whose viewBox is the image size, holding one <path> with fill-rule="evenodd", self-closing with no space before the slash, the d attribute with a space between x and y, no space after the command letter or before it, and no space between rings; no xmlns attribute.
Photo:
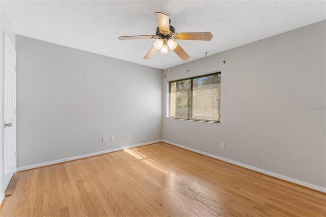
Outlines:
<svg viewBox="0 0 326 217"><path fill-rule="evenodd" d="M4 171L5 189L16 172L16 51L5 35Z"/></svg>

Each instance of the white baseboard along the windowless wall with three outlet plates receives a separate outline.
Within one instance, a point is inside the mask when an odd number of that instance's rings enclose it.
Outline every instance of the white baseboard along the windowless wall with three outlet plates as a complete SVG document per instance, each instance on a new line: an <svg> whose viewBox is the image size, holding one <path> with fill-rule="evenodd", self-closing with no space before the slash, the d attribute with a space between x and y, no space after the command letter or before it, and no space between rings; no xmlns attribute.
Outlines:
<svg viewBox="0 0 326 217"><path fill-rule="evenodd" d="M90 153L90 154L84 154L84 155L59 159L59 160L52 160L52 161L42 162L40 164L34 164L34 165L19 167L19 168L17 168L17 172L22 171L22 170L30 170L30 169L33 169L33 168L48 166L48 165L52 165L52 164L58 164L60 162L75 160L75 159L79 159L79 158L96 156L96 155L99 155L99 154L105 154L105 153L110 153L110 152L114 152L114 151L120 151L120 150L124 150L124 149L128 149L128 148L135 148L135 147L149 145L149 144L158 143L158 142L162 142L162 140L155 140L155 141L146 142L146 143L140 143L140 144L135 144L135 145L130 145L130 146L124 146L124 147L119 147L119 148L108 149L108 150L104 150L104 151L98 151L98 152L94 152L94 153Z"/></svg>

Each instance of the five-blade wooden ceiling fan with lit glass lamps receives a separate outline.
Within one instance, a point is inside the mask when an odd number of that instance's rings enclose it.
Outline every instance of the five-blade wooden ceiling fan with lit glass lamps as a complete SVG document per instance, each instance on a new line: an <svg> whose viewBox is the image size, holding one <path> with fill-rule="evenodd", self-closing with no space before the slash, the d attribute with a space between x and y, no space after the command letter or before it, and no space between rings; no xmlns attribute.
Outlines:
<svg viewBox="0 0 326 217"><path fill-rule="evenodd" d="M180 47L175 40L201 40L210 41L213 36L211 33L176 33L167 14L155 12L158 23L155 35L142 36L120 36L120 40L132 39L157 39L152 48L147 52L144 59L151 59L155 52L160 49L161 53L168 53L168 47L173 50L181 60L188 60L189 55Z"/></svg>

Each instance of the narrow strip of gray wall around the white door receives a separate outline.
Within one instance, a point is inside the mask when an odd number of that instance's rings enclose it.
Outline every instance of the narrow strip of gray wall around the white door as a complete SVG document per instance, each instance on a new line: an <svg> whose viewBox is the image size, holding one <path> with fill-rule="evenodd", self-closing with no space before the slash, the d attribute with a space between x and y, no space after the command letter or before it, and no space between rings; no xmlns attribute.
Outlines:
<svg viewBox="0 0 326 217"><path fill-rule="evenodd" d="M3 2L0 2L0 87L4 86L4 33L8 36L11 44L15 48L15 32L7 17L6 11L3 7ZM0 88L0 123L4 123L3 104L4 104L4 92L3 88ZM4 128L0 127L0 202L2 201L2 195L4 190Z"/></svg>

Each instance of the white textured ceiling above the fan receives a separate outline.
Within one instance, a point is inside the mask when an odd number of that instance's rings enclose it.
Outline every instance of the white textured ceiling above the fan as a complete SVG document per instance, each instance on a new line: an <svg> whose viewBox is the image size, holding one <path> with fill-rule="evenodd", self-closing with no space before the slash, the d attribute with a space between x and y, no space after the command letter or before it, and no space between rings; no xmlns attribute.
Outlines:
<svg viewBox="0 0 326 217"><path fill-rule="evenodd" d="M172 67L326 19L326 2L313 1L2 1L16 34L155 68ZM143 57L154 39L154 12L170 16L176 32L211 32L211 41L178 41L171 50Z"/></svg>

